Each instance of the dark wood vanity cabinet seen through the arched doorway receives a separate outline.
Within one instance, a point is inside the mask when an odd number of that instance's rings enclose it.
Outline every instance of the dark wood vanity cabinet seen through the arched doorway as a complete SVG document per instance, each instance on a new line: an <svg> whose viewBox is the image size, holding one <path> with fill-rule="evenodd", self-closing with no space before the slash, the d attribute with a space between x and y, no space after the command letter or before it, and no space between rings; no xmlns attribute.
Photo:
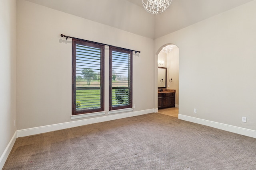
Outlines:
<svg viewBox="0 0 256 170"><path fill-rule="evenodd" d="M175 92L158 93L158 109L175 107Z"/></svg>

